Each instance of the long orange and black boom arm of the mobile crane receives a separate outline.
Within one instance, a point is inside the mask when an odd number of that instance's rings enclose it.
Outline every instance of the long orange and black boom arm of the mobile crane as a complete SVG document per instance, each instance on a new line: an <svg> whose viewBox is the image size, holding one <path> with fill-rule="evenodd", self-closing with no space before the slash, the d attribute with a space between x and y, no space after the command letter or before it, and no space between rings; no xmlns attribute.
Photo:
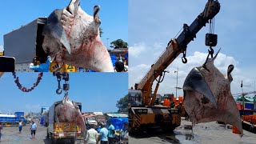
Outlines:
<svg viewBox="0 0 256 144"><path fill-rule="evenodd" d="M183 53L186 56L186 46L196 38L196 34L210 19L214 18L220 10L220 4L218 0L209 0L206 3L205 10L198 15L198 18L192 22L190 26L184 24L183 31L178 35L178 38L170 40L166 50L158 58L158 60L151 66L150 70L146 73L141 82L135 84L135 90L142 90L142 97L144 98L144 105L152 105L150 102L150 94L153 82L158 76L162 76L166 67ZM158 89L158 87L157 87ZM157 90L156 89L156 90ZM152 100L154 100L154 97Z"/></svg>

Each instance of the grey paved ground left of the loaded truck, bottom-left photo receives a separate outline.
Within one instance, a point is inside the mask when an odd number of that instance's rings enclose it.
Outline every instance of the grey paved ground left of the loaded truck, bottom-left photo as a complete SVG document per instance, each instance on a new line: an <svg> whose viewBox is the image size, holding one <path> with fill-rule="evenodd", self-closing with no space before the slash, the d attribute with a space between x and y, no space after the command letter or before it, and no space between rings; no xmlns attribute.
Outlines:
<svg viewBox="0 0 256 144"><path fill-rule="evenodd" d="M38 125L38 130L35 134L35 138L31 139L30 135L30 126L23 126L22 133L20 134L18 132L18 127L3 127L2 130L2 138L1 138L1 144L7 144L7 143L26 143L26 144L39 144L39 143L46 143L50 144L50 139L46 138L46 127ZM83 141L77 141L76 143L82 144Z"/></svg>

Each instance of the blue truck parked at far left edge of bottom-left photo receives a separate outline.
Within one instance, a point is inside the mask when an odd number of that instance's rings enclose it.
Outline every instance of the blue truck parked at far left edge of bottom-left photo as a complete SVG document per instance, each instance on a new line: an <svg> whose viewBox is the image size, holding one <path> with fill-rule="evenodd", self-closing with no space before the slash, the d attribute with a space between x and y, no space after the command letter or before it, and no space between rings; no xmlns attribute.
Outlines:
<svg viewBox="0 0 256 144"><path fill-rule="evenodd" d="M18 126L21 121L23 126L26 126L26 118L24 112L15 112L14 114L0 114L0 124L2 126Z"/></svg>

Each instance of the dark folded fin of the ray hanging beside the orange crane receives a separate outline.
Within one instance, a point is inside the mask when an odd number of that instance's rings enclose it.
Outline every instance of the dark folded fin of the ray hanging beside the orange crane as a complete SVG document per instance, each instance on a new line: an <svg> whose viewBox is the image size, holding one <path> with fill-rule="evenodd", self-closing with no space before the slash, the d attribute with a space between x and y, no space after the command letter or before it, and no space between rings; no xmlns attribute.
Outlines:
<svg viewBox="0 0 256 144"><path fill-rule="evenodd" d="M210 102L214 104L215 107L217 107L217 102L214 98L214 94L210 90L210 87L207 85L205 78L202 76L197 68L193 68L187 75L183 84L183 90L195 90L198 93L203 94L206 98L210 100Z"/></svg>

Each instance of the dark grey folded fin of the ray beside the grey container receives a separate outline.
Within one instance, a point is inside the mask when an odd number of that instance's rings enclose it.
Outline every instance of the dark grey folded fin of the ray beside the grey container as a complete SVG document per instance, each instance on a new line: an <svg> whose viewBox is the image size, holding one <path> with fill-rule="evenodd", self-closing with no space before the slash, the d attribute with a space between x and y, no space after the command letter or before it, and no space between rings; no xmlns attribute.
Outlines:
<svg viewBox="0 0 256 144"><path fill-rule="evenodd" d="M47 19L47 24L42 32L43 35L50 35L53 38L56 38L66 50L71 53L70 41L66 36L66 32L60 21L62 16L62 10L54 10L52 14Z"/></svg>

